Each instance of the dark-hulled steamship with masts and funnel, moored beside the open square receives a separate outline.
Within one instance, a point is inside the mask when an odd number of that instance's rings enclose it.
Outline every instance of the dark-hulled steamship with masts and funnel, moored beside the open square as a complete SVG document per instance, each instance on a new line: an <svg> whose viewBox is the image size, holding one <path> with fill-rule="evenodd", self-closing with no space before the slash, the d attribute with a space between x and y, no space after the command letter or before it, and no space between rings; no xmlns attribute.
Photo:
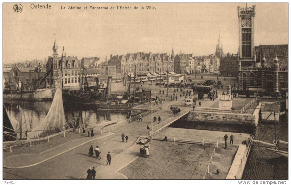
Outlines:
<svg viewBox="0 0 291 185"><path fill-rule="evenodd" d="M84 71L84 70L83 70ZM80 75L79 75L80 76ZM136 75L134 75L136 76ZM123 77L123 87L125 88L122 94L111 93L112 77L108 76L107 87L101 86L99 77L95 77L95 85L89 86L87 77L80 79L80 89L76 90L63 90L63 101L68 103L75 103L79 105L90 106L97 109L106 110L127 110L131 109L136 105L146 103L150 101L151 91L150 90L137 90L135 89L135 77L134 77L134 92L133 96L130 93L130 81L127 82L127 75ZM83 87L84 79L84 87Z"/></svg>

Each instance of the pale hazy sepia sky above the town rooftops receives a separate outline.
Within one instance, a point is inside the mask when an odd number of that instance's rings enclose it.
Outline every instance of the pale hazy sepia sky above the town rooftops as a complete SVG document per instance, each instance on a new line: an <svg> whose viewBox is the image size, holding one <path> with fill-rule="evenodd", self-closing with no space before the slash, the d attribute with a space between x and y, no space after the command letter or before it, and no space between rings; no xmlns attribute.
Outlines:
<svg viewBox="0 0 291 185"><path fill-rule="evenodd" d="M46 5L47 3L40 3ZM224 53L237 53L237 6L246 3L48 3L51 9L3 3L3 62L52 56L54 39L61 56L110 57L134 52L214 54L218 37ZM35 4L37 5L37 4ZM255 45L288 44L288 3L255 5ZM65 7L66 9L61 9ZM69 10L79 6L81 10ZM87 10L84 7L87 6ZM108 7L108 10L90 10ZM115 7L111 10L110 7ZM131 6L131 10L116 10ZM139 7L134 10L134 7ZM141 10L140 6L145 9ZM147 10L146 6L154 6Z"/></svg>

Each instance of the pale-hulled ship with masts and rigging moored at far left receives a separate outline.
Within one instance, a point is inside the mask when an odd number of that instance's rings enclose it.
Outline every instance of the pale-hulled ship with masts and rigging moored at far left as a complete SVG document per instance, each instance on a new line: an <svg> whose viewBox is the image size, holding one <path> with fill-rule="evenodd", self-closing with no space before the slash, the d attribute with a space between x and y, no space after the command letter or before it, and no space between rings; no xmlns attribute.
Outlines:
<svg viewBox="0 0 291 185"><path fill-rule="evenodd" d="M30 69L30 65L29 65ZM35 101L50 101L54 96L53 88L41 88L42 82L45 80L47 75L51 73L52 69L47 73L38 76L36 79L33 79L31 76L31 70L29 70L29 83L22 85L22 82L18 80L18 84L12 84L11 82L5 83L3 77L3 99L14 99L19 100L35 100Z"/></svg>

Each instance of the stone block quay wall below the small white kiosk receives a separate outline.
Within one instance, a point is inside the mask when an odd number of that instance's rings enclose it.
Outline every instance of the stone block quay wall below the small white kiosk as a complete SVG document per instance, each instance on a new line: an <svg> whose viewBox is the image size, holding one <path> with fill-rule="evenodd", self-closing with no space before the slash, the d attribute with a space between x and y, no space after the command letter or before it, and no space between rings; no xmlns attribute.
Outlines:
<svg viewBox="0 0 291 185"><path fill-rule="evenodd" d="M258 110L259 112L259 110ZM235 124L235 125L258 125L258 113L256 114L239 114L239 113L221 113L221 112L199 112L190 111L187 121L207 122L214 124Z"/></svg>

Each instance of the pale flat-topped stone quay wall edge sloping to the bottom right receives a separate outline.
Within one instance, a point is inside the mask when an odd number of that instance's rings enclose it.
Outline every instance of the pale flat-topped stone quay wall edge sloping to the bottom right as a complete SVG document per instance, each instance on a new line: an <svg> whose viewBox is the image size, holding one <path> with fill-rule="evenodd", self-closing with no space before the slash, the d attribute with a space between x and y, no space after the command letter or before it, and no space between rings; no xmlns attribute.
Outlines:
<svg viewBox="0 0 291 185"><path fill-rule="evenodd" d="M250 147L250 146L249 146ZM244 167L248 159L247 155L248 148L246 145L239 145L233 163L230 166L226 179L242 179Z"/></svg>

